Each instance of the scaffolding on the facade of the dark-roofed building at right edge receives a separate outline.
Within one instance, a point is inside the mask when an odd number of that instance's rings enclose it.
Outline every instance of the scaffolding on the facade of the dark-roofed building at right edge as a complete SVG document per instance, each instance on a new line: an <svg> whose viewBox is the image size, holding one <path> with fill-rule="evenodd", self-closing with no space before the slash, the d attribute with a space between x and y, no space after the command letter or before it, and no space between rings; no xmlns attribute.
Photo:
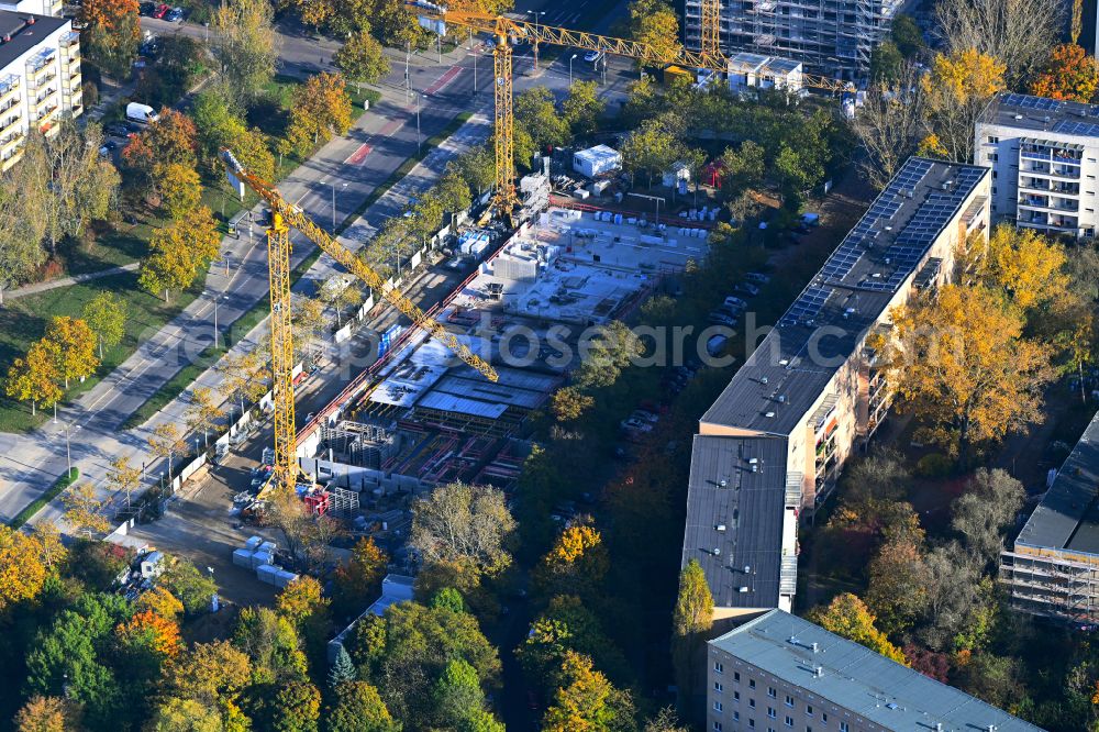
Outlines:
<svg viewBox="0 0 1099 732"><path fill-rule="evenodd" d="M1000 581L1012 607L1072 622L1099 620L1099 565L1061 556L1004 551Z"/></svg>

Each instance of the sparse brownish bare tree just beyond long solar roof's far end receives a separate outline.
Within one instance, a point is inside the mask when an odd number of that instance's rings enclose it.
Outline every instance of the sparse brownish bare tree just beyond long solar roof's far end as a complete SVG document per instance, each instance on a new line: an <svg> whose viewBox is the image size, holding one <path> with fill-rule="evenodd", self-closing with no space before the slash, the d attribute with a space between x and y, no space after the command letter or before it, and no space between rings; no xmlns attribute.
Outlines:
<svg viewBox="0 0 1099 732"><path fill-rule="evenodd" d="M895 80L873 87L852 126L866 151L864 174L875 188L885 188L926 135L918 67L906 64Z"/></svg>

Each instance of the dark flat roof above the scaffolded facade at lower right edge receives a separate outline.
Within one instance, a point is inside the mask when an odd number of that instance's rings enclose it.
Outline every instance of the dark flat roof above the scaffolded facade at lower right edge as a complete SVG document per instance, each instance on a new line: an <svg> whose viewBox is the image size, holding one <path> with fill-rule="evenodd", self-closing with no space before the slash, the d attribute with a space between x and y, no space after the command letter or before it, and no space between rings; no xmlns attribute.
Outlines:
<svg viewBox="0 0 1099 732"><path fill-rule="evenodd" d="M1099 554L1099 412L1061 467L1015 545Z"/></svg>

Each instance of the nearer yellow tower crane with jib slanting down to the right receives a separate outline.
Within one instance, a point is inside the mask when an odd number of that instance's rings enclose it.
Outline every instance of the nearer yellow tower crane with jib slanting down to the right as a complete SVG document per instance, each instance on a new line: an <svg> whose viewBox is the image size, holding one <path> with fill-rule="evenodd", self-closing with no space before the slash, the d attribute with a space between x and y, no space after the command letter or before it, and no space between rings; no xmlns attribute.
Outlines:
<svg viewBox="0 0 1099 732"><path fill-rule="evenodd" d="M275 479L276 487L293 488L298 478L297 428L293 417L293 334L290 325L290 229L296 229L317 244L407 315L417 328L439 339L458 358L480 371L490 381L496 369L475 355L454 334L425 314L414 302L391 287L381 275L363 263L314 224L300 208L289 203L269 182L252 175L230 151L222 151L222 162L230 182L244 198L245 187L256 191L271 209L267 230L267 264L271 298L271 393L275 402Z"/></svg>

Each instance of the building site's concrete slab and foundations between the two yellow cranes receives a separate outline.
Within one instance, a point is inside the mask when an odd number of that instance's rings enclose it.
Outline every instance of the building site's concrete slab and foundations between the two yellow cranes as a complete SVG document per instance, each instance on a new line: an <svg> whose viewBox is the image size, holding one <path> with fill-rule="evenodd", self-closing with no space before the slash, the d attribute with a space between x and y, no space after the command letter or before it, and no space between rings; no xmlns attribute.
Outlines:
<svg viewBox="0 0 1099 732"><path fill-rule="evenodd" d="M496 381L407 331L299 435L301 469L364 506L453 480L509 488L528 418L579 363L585 331L628 318L707 253L703 229L586 208L532 217L430 313Z"/></svg>

